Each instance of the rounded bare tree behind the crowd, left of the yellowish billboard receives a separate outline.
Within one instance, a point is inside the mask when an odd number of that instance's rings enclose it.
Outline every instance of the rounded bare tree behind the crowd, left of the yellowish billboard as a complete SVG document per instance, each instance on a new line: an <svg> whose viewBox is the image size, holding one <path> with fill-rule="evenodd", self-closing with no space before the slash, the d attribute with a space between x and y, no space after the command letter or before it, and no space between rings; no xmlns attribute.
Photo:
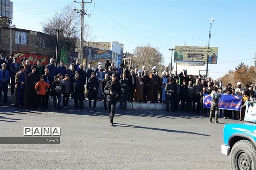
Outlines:
<svg viewBox="0 0 256 170"><path fill-rule="evenodd" d="M137 46L134 49L134 63L137 68L142 68L143 65L147 66L149 70L156 65L160 66L163 62L163 54L157 48L151 47L150 44L146 46Z"/></svg>

